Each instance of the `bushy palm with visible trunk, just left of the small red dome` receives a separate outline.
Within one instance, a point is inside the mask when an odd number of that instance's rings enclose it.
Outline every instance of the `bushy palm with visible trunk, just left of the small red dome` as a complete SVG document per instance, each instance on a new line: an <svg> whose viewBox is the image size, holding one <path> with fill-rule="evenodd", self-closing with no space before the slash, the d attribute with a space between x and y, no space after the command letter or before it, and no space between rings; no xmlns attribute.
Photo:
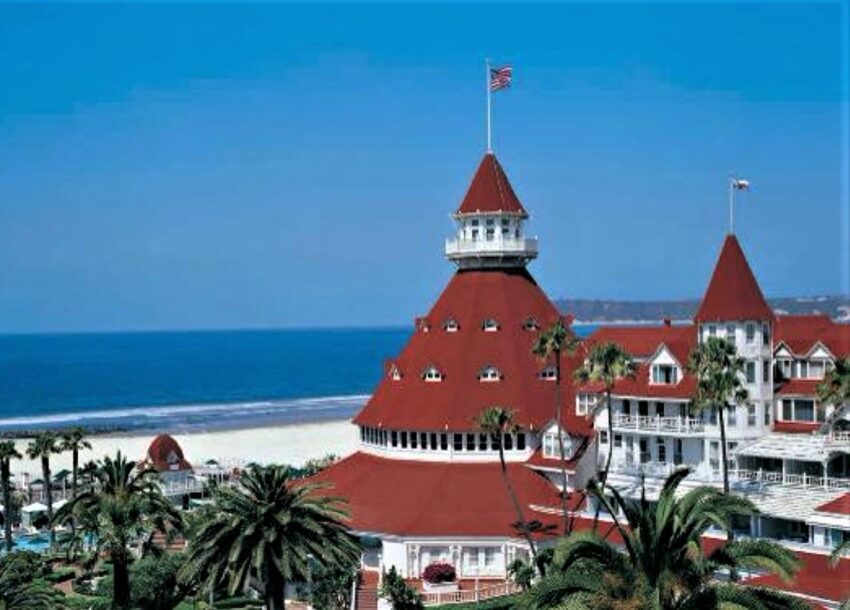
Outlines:
<svg viewBox="0 0 850 610"><path fill-rule="evenodd" d="M119 451L98 463L93 484L59 509L56 522L77 519L81 533L90 535L98 554L113 566L112 607L130 607L130 545L148 548L157 532L179 532L182 519L163 495L159 474L137 469Z"/></svg>

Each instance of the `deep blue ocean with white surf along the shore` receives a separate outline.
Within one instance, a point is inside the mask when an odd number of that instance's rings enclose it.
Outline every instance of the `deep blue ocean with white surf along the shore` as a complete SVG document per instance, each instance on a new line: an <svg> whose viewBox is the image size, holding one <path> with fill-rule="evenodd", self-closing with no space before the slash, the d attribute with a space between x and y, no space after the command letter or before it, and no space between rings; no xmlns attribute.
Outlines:
<svg viewBox="0 0 850 610"><path fill-rule="evenodd" d="M347 418L409 335L407 328L0 335L0 433L191 432Z"/></svg>

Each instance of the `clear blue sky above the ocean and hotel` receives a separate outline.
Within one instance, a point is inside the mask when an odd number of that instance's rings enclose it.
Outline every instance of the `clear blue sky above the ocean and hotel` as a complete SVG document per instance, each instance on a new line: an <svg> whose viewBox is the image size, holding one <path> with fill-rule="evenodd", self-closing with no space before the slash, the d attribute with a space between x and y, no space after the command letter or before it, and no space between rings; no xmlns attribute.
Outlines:
<svg viewBox="0 0 850 610"><path fill-rule="evenodd" d="M848 291L847 3L0 5L0 332L407 324L484 148L553 297ZM844 28L842 30L842 28Z"/></svg>

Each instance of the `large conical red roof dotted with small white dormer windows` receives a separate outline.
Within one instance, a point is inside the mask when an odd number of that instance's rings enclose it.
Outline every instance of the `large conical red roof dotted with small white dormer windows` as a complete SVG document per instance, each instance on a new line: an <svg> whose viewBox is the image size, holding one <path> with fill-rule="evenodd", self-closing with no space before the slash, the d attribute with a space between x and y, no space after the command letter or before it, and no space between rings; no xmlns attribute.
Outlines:
<svg viewBox="0 0 850 610"><path fill-rule="evenodd" d="M533 319L544 329L559 315L525 269L458 271L391 361L390 368L395 365L401 379L385 375L355 423L401 430L472 430L483 409L498 405L514 409L517 423L539 429L552 419L555 383L538 377L545 363L531 349L539 331L526 330L524 324ZM484 331L486 319L495 320L498 330ZM448 320L457 324L456 332L445 330ZM443 375L442 381L422 378L431 365ZM479 381L486 365L498 369L499 381ZM574 359L564 357L562 378L571 379L574 367ZM572 384L562 383L561 389L565 428L589 434L590 422L575 415Z"/></svg>

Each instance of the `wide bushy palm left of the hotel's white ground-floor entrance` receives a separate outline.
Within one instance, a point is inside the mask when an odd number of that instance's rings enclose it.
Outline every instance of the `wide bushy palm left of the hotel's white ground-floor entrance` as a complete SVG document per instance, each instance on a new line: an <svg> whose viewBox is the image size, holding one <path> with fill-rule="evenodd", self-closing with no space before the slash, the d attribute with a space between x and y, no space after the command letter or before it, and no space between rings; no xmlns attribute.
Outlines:
<svg viewBox="0 0 850 610"><path fill-rule="evenodd" d="M289 468L257 466L238 485L214 487L211 516L192 537L181 580L231 595L252 582L266 608L284 607L286 583L307 580L310 561L351 565L360 557L357 539L342 520L342 500L295 482Z"/></svg>

